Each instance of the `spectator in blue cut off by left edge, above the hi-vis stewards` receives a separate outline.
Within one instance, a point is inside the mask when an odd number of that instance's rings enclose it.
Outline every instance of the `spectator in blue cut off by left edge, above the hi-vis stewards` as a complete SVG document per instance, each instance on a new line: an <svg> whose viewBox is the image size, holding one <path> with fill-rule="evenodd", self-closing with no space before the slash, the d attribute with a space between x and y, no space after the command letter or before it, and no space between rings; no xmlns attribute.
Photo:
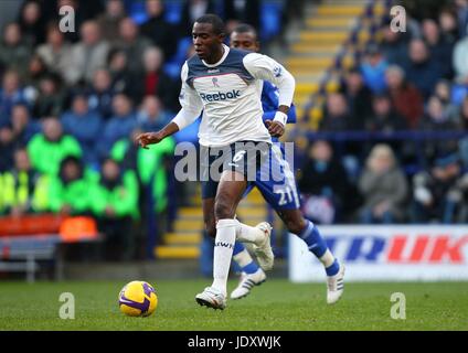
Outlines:
<svg viewBox="0 0 468 353"><path fill-rule="evenodd" d="M26 103L20 77L15 71L8 71L3 75L0 89L0 126L10 122L11 109L20 103Z"/></svg>

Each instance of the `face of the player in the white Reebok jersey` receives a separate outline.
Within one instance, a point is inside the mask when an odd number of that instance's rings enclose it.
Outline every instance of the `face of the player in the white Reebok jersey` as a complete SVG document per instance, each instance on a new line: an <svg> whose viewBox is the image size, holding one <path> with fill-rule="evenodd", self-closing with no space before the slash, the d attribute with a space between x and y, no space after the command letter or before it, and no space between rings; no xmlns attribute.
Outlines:
<svg viewBox="0 0 468 353"><path fill-rule="evenodd" d="M195 22L193 24L192 40L196 55L201 60L208 61L220 52L223 43L223 36L213 32L213 25L211 23Z"/></svg>

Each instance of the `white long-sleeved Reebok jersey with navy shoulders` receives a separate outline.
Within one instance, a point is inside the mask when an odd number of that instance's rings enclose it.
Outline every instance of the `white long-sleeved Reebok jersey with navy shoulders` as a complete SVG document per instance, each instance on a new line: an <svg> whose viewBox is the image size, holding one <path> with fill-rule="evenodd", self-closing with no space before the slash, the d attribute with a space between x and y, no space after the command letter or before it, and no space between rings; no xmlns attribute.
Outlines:
<svg viewBox="0 0 468 353"><path fill-rule="evenodd" d="M208 64L198 55L189 58L181 72L182 109L172 120L180 129L202 113L200 145L223 147L236 141L270 142L262 116L263 81L278 87L279 105L290 106L295 79L275 60L224 46L223 57Z"/></svg>

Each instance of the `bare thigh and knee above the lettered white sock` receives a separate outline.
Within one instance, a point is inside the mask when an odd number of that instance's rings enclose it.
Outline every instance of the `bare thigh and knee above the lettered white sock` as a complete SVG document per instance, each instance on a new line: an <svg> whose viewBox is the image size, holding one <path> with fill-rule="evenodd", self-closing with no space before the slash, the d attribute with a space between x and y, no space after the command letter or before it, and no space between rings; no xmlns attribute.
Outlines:
<svg viewBox="0 0 468 353"><path fill-rule="evenodd" d="M234 218L246 186L247 181L244 174L230 170L223 171L214 202L216 220Z"/></svg>

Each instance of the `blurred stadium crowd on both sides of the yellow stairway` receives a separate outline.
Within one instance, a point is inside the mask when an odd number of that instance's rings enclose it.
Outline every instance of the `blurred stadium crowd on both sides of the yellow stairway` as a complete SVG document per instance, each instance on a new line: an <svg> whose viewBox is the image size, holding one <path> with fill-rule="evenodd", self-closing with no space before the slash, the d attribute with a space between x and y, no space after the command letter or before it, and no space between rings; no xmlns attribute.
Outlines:
<svg viewBox="0 0 468 353"><path fill-rule="evenodd" d="M137 18L134 2L26 0L3 28L1 215L93 214L123 242L132 224L141 235L149 216L167 220L177 140L143 152L132 137L178 111L193 20L217 12L231 29L260 26L260 1L240 9L190 0L178 21L160 0L146 1L145 19ZM320 131L468 130L468 1L437 3L410 18L406 33L382 28L382 41L327 96ZM76 10L75 32L59 29L65 4ZM318 223L466 223L468 138L426 141L426 163L412 169L416 145L311 141L300 161L306 214Z"/></svg>

